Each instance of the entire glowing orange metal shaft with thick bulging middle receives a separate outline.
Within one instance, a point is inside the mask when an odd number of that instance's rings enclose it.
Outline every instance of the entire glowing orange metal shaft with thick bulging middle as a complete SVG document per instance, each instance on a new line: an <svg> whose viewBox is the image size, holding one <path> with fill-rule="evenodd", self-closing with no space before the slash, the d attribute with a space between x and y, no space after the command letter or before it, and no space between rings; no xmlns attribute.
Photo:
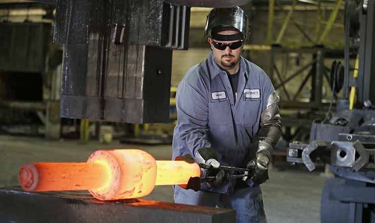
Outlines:
<svg viewBox="0 0 375 223"><path fill-rule="evenodd" d="M25 191L89 190L99 200L138 198L155 185L187 184L197 163L156 161L141 150L99 150L87 163L27 163L18 179Z"/></svg>

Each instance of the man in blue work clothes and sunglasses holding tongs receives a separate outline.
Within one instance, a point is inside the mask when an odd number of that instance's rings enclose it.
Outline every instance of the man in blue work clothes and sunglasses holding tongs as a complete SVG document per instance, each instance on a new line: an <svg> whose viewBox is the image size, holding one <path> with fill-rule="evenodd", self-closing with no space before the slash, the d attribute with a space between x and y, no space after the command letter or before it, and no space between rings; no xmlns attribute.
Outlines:
<svg viewBox="0 0 375 223"><path fill-rule="evenodd" d="M212 53L193 66L178 85L173 159L191 155L214 171L201 190L174 187L176 203L233 208L237 222L267 222L259 184L268 179L273 147L281 135L279 97L266 73L241 57L248 20L239 7L213 9L205 33ZM243 179L226 179L220 166L256 170ZM230 174L236 174L230 172Z"/></svg>

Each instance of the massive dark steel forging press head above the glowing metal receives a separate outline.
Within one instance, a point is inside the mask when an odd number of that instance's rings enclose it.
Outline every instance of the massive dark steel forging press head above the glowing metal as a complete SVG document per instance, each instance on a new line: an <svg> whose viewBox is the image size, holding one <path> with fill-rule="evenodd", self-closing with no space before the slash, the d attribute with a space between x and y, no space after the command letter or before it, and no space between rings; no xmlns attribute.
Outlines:
<svg viewBox="0 0 375 223"><path fill-rule="evenodd" d="M57 0L54 40L65 47L61 116L167 122L171 50L187 49L190 7L247 2Z"/></svg>

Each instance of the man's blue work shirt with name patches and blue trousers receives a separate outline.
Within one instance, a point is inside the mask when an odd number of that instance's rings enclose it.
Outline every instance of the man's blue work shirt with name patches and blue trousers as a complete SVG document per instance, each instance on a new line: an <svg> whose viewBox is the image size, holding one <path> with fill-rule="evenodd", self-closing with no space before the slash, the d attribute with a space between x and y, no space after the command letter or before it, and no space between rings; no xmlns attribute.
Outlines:
<svg viewBox="0 0 375 223"><path fill-rule="evenodd" d="M176 94L177 125L173 134L172 159L211 147L223 166L244 167L247 146L258 131L262 111L274 92L270 78L254 63L240 58L236 101L227 73L211 55L193 66L180 82ZM237 223L267 222L259 185L236 189L236 180L222 187L194 192L174 187L176 203L218 206L237 211Z"/></svg>

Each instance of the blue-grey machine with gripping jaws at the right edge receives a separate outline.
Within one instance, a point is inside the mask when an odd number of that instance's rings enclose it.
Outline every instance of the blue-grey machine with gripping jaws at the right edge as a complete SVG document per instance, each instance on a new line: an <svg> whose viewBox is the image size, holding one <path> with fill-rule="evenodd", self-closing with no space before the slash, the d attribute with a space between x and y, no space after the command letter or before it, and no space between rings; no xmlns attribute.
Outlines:
<svg viewBox="0 0 375 223"><path fill-rule="evenodd" d="M304 163L312 171L314 162L321 161L338 177L324 185L323 223L375 222L374 10L373 0L346 2L345 75L337 81L342 71L333 72L331 81L333 94L342 87L344 97L336 100L336 113L329 109L324 120L313 123L309 144L293 142L287 151L288 162ZM353 55L354 67L349 62Z"/></svg>

